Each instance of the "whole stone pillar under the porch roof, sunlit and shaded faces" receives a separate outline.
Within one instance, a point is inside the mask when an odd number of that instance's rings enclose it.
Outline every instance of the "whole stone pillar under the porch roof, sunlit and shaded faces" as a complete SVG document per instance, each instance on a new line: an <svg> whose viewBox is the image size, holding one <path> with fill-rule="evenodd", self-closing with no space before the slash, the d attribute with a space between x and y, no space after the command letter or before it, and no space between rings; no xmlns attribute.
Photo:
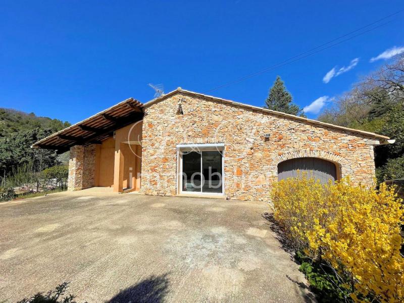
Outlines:
<svg viewBox="0 0 404 303"><path fill-rule="evenodd" d="M70 148L68 190L94 186L95 145L74 145Z"/></svg>

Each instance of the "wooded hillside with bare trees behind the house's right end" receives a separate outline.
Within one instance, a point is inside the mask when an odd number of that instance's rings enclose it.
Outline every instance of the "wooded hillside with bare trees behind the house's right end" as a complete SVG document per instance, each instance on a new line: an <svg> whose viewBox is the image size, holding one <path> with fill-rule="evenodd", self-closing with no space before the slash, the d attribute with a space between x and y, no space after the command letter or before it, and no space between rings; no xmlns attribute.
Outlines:
<svg viewBox="0 0 404 303"><path fill-rule="evenodd" d="M318 120L395 139L375 147L376 175L379 182L404 178L404 55L336 97Z"/></svg>

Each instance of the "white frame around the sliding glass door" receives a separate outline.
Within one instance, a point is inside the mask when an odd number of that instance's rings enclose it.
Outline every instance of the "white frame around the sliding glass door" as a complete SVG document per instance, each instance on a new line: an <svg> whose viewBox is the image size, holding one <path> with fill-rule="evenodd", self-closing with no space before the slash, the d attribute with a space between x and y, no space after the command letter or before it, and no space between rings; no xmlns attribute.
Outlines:
<svg viewBox="0 0 404 303"><path fill-rule="evenodd" d="M222 153L222 192L202 192L200 191L182 191L182 151L221 151ZM224 195L224 143L205 143L205 144L177 144L177 194L195 194L195 195ZM200 171L202 172L202 154L200 155Z"/></svg>

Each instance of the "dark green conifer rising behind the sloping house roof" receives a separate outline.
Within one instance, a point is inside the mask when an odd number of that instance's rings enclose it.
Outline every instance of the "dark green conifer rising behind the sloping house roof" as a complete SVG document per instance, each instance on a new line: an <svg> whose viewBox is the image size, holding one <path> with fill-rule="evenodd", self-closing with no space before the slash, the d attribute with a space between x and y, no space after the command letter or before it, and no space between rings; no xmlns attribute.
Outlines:
<svg viewBox="0 0 404 303"><path fill-rule="evenodd" d="M285 84L279 76L276 77L274 85L269 90L264 108L295 116L305 116L303 111L292 102L292 95L286 90Z"/></svg>

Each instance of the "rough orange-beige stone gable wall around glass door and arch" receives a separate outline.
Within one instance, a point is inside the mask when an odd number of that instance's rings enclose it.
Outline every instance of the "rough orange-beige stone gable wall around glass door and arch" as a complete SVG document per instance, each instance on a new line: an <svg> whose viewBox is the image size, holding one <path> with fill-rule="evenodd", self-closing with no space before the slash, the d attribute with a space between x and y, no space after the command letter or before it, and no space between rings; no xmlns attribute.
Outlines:
<svg viewBox="0 0 404 303"><path fill-rule="evenodd" d="M183 115L177 114L181 100ZM145 107L141 191L177 194L177 150L181 143L224 143L225 196L268 200L280 162L318 157L334 162L340 176L371 185L373 137L263 113L179 92ZM269 133L270 137L265 138Z"/></svg>

